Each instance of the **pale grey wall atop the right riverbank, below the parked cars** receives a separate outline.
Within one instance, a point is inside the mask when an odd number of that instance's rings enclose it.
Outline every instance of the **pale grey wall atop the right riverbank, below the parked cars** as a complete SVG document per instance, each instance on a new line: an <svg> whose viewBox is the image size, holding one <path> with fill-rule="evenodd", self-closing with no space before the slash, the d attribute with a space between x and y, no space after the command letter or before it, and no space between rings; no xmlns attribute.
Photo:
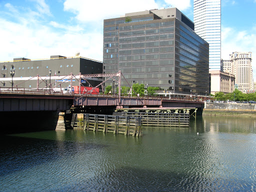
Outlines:
<svg viewBox="0 0 256 192"><path fill-rule="evenodd" d="M204 109L225 109L225 110L255 110L256 104L250 103L217 103L205 102Z"/></svg>

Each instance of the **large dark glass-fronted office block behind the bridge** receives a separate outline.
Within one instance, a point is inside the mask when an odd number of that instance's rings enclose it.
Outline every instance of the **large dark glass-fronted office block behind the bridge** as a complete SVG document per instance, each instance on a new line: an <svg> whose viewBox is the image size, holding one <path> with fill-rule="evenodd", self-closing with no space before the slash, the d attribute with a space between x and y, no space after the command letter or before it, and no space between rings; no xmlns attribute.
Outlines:
<svg viewBox="0 0 256 192"><path fill-rule="evenodd" d="M209 45L176 8L104 20L103 71L175 94L208 92ZM122 80L122 85L127 85ZM112 85L112 81L105 83Z"/></svg>

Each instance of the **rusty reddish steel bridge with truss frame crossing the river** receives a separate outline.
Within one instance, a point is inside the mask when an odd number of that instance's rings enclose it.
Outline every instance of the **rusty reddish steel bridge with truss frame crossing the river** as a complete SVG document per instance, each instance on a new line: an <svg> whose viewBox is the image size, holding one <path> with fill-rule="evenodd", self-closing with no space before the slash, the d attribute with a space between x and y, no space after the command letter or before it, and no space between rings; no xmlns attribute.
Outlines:
<svg viewBox="0 0 256 192"><path fill-rule="evenodd" d="M99 80L99 77L108 77L92 89L84 94L76 94L74 92L64 94L61 87L63 82L70 82L72 87L73 79L78 81L80 92L82 80ZM121 71L116 73L101 73L101 74L77 74L70 73L65 76L39 76L30 77L25 80L36 80L36 88L19 88L25 82L13 85L11 88L0 87L0 111L52 111L52 110L68 110L72 106L78 107L104 107L114 106L116 108L134 107L134 106L154 106L154 107L195 107L203 108L204 102L192 99L169 99L166 97L153 97L153 96L122 96L121 95ZM53 81L42 88L41 83L45 83L47 79L58 79ZM118 83L118 92L114 95L104 94L90 94L96 87L100 87L103 91L103 83L109 79ZM123 77L125 80L125 78ZM15 80L15 79L14 79ZM87 81L88 82L88 81ZM127 81L126 81L127 82ZM128 82L127 82L128 83ZM129 84L129 83L128 83ZM91 85L91 84L90 84ZM54 89L60 87L60 92L55 92ZM131 86L130 86L131 87ZM48 88L48 89L46 89ZM130 88L130 91L132 87ZM133 90L134 91L134 90ZM135 92L135 91L134 91Z"/></svg>

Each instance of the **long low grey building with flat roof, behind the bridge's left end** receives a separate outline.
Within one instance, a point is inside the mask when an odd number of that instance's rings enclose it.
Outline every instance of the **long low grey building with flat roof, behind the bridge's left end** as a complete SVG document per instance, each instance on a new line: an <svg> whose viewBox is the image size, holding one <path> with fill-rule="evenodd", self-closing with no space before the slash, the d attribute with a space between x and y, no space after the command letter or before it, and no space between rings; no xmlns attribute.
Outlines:
<svg viewBox="0 0 256 192"><path fill-rule="evenodd" d="M93 59L88 59L80 56L65 57L60 55L52 55L48 59L28 59L28 58L14 58L13 61L0 62L1 76L0 87L7 88L13 87L18 84L19 88L36 88L37 80L27 80L33 76L46 76L46 83L49 83L49 71L51 71L51 82L59 80L59 76L78 75L81 74L94 74L102 73L102 62ZM13 78L10 71L14 70ZM67 77L65 78L67 79ZM65 81L62 79L62 87L70 86L70 80ZM93 80L92 80L93 79ZM26 81L27 80L27 81ZM91 78L88 80L92 86L96 86L102 82L102 78ZM46 83L40 83L39 88L42 88ZM56 84L59 84L56 83ZM79 82L75 80L72 85L78 85ZM84 86L89 86L87 81L83 81ZM99 87L101 88L101 86Z"/></svg>

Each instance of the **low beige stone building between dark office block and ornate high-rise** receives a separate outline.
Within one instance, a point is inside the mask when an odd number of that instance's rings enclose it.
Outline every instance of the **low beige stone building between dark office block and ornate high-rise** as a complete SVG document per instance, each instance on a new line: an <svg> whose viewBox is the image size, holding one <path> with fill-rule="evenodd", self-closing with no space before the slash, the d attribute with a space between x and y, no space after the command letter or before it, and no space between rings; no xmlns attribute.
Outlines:
<svg viewBox="0 0 256 192"><path fill-rule="evenodd" d="M224 93L233 92L234 80L234 75L228 72L220 70L209 71L210 93L215 94L215 92L219 91Z"/></svg>

